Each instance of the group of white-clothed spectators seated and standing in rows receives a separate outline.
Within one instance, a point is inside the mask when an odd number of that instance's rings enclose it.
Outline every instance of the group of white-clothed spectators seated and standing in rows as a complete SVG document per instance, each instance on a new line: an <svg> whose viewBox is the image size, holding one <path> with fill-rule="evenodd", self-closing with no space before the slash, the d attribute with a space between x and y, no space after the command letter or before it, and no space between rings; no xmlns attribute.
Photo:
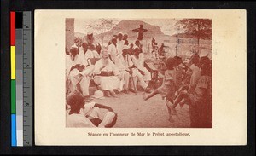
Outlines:
<svg viewBox="0 0 256 156"><path fill-rule="evenodd" d="M150 91L151 73L144 66L140 41L129 44L128 35L119 32L110 39L107 48L94 43L93 33L88 33L83 43L75 43L66 55L67 94L79 90L89 95L91 79L105 96L129 94L129 90L137 90L137 85Z"/></svg>

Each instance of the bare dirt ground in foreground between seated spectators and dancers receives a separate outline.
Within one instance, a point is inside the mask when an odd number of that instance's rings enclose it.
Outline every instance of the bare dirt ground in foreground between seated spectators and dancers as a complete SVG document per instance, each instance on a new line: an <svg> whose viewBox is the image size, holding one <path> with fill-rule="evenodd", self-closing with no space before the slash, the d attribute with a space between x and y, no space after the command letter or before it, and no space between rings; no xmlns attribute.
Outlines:
<svg viewBox="0 0 256 156"><path fill-rule="evenodd" d="M120 93L118 98L105 97L95 99L112 107L118 113L116 128L185 128L189 127L189 107L185 105L182 109L177 106L177 116L173 116L174 123L168 121L168 111L165 101L160 95L155 95L148 101L143 101L142 92Z"/></svg>

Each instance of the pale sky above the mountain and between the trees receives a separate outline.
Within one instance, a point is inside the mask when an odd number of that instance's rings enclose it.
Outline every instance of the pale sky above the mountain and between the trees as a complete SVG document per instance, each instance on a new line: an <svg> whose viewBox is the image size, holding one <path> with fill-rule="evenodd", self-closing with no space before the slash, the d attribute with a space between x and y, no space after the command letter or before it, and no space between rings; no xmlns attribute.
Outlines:
<svg viewBox="0 0 256 156"><path fill-rule="evenodd" d="M159 26L161 31L164 32L166 35L173 35L176 34L177 31L175 30L175 24L177 23L176 19L123 19L123 20L143 20L144 22ZM98 19L75 19L74 20L74 31L75 32L81 32L86 33L87 30L85 28L86 25L98 22ZM119 23L119 19L114 19L115 24ZM94 30L90 30L94 32Z"/></svg>

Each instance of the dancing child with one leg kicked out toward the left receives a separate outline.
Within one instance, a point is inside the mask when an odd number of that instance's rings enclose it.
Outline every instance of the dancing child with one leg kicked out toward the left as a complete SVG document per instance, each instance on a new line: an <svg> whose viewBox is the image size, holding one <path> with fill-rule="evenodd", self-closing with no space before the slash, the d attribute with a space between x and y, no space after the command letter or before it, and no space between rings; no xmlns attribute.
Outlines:
<svg viewBox="0 0 256 156"><path fill-rule="evenodd" d="M175 93L175 84L173 81L174 76L174 67L175 66L175 60L173 58L168 58L166 60L166 71L165 71L165 78L163 80L163 84L156 90L152 91L149 95L143 94L144 101L147 101L149 98L153 97L154 95L160 94L162 96L162 99L164 100L166 97L166 106L169 113L169 121L173 122L172 119L172 111L171 106L169 102L173 103L173 96ZM168 102L167 102L168 101Z"/></svg>

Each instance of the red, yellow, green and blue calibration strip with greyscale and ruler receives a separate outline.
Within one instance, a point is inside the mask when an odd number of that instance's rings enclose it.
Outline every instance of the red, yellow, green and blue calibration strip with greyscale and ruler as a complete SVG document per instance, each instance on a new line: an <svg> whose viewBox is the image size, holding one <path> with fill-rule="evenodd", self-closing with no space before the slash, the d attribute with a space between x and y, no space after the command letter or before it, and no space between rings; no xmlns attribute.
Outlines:
<svg viewBox="0 0 256 156"><path fill-rule="evenodd" d="M11 145L32 145L31 12L10 13Z"/></svg>

